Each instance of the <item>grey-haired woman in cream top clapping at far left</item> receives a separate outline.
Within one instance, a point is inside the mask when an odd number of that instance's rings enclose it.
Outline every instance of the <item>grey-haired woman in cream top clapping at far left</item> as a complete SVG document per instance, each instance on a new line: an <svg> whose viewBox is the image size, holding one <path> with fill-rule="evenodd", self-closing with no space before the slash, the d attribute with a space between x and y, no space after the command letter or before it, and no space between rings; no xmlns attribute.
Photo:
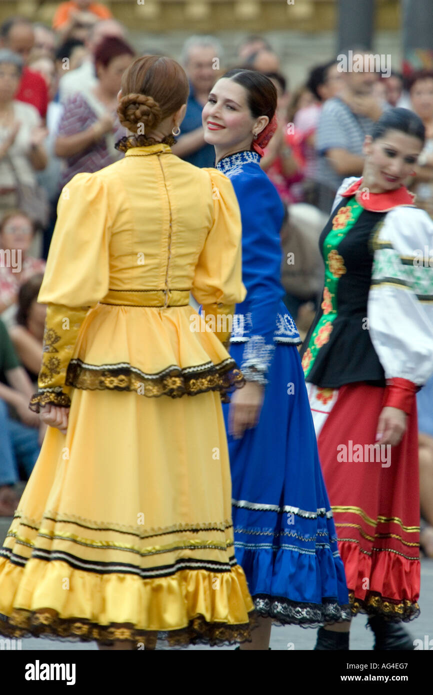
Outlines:
<svg viewBox="0 0 433 695"><path fill-rule="evenodd" d="M24 207L34 222L44 226L43 192L37 188L35 172L47 165L42 142L47 131L31 104L17 101L23 61L0 49L0 216L9 208Z"/></svg>

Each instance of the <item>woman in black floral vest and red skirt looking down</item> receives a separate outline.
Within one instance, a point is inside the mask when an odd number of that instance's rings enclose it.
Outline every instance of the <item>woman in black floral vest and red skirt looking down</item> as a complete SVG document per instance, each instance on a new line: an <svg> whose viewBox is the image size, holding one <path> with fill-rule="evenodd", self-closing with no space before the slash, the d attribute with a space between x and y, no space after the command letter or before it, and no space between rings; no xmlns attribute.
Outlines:
<svg viewBox="0 0 433 695"><path fill-rule="evenodd" d="M423 149L418 116L393 108L366 136L320 237L322 302L302 366L352 614L375 649L413 649L419 614L416 391L433 373L433 222L404 186ZM316 649L348 649L350 623ZM343 631L342 631L343 630Z"/></svg>

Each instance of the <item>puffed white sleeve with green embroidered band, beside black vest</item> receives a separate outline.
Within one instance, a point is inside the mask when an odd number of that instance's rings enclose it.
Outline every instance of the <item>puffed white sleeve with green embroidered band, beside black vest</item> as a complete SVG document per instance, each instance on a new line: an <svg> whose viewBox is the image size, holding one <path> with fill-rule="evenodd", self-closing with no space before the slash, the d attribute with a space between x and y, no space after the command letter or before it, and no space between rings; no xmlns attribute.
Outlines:
<svg viewBox="0 0 433 695"><path fill-rule="evenodd" d="M423 210L394 208L373 238L370 336L386 379L422 386L433 374L433 222ZM432 259L433 266L433 259Z"/></svg>

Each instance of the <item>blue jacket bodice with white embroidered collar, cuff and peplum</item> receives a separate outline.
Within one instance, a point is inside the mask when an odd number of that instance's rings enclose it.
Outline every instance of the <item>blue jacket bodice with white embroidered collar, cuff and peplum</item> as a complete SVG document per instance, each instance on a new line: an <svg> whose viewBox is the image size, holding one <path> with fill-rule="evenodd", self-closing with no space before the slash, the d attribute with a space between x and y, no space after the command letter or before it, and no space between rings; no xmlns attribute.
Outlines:
<svg viewBox="0 0 433 695"><path fill-rule="evenodd" d="M247 297L236 306L231 343L246 343L240 368L268 372L275 344L302 342L282 297L279 232L284 208L257 152L236 152L216 165L234 187L242 218L242 273Z"/></svg>

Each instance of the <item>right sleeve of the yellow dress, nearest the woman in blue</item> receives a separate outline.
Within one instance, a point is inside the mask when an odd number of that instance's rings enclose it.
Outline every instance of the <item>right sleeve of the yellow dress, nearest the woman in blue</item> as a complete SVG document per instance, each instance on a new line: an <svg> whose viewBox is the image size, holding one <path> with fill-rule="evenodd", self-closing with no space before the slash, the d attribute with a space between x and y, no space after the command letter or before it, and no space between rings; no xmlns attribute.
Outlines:
<svg viewBox="0 0 433 695"><path fill-rule="evenodd" d="M206 169L213 198L213 224L195 268L192 293L207 325L228 345L235 305L246 295L242 282L242 226L233 186L224 174ZM220 318L218 318L220 317ZM226 318L227 317L227 318Z"/></svg>

